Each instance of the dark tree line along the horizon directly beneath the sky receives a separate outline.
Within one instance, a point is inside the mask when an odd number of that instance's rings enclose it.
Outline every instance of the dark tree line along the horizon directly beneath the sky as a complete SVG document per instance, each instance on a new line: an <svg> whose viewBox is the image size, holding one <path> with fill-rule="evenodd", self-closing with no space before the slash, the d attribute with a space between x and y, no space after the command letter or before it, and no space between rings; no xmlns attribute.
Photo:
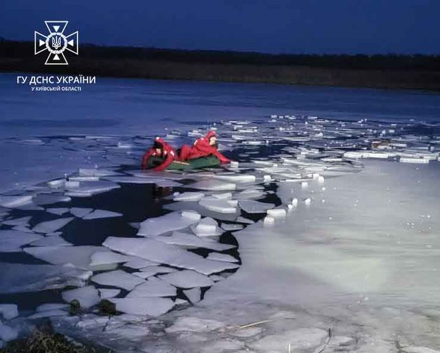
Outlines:
<svg viewBox="0 0 440 353"><path fill-rule="evenodd" d="M0 38L0 57L34 56L34 43ZM146 60L174 63L299 65L335 69L414 70L440 72L440 55L404 54L264 54L219 50L178 50L155 47L80 45L81 58Z"/></svg>

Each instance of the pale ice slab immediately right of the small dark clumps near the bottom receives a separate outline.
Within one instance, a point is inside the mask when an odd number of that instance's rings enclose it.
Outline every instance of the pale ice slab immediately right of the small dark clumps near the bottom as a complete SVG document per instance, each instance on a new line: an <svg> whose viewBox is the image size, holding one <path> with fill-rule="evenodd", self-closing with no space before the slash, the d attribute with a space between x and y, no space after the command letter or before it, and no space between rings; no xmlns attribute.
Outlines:
<svg viewBox="0 0 440 353"><path fill-rule="evenodd" d="M140 298L112 298L109 299L115 303L116 310L126 314L149 315L157 317L165 314L173 308L174 301L168 298L145 297Z"/></svg>

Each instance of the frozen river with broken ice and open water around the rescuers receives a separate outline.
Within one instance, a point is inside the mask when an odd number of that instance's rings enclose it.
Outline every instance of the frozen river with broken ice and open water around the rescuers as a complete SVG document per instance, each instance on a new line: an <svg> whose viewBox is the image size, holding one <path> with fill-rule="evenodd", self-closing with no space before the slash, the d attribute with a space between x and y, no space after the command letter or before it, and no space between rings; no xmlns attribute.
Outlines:
<svg viewBox="0 0 440 353"><path fill-rule="evenodd" d="M0 344L50 317L118 352L440 352L438 94L0 90ZM138 170L208 127L238 167Z"/></svg>

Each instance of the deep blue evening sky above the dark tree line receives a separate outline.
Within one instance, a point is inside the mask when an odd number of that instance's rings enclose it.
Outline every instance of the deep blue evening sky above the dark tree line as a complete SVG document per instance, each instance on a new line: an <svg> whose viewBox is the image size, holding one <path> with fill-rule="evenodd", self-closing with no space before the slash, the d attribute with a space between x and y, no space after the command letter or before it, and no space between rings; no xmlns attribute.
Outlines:
<svg viewBox="0 0 440 353"><path fill-rule="evenodd" d="M80 43L270 53L440 54L440 0L1 0L0 36L68 20Z"/></svg>

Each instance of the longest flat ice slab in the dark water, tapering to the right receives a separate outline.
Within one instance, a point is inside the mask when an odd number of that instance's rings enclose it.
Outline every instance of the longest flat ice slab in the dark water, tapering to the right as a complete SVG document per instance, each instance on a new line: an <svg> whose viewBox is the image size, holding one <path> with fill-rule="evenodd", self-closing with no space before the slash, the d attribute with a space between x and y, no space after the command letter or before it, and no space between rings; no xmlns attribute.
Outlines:
<svg viewBox="0 0 440 353"><path fill-rule="evenodd" d="M204 275L239 267L236 264L223 261L204 259L179 246L164 244L148 238L108 237L103 245L120 253L142 257L160 264L196 270Z"/></svg>

